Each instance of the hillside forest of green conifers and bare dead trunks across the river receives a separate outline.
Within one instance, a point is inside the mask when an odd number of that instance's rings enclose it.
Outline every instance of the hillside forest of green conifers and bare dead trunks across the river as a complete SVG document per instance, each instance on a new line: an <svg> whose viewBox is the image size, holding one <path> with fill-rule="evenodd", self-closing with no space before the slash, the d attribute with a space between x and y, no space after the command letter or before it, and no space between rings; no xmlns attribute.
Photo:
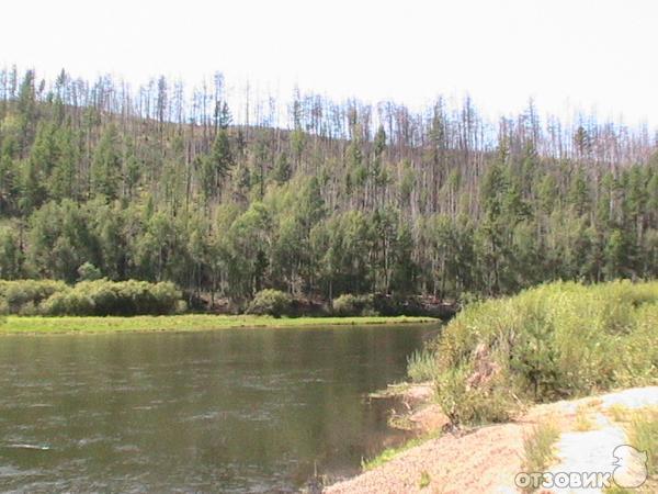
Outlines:
<svg viewBox="0 0 658 494"><path fill-rule="evenodd" d="M188 93L1 71L0 277L245 300L658 274L646 131L532 104L490 125L469 100L415 113L297 93L237 109L220 77Z"/></svg>

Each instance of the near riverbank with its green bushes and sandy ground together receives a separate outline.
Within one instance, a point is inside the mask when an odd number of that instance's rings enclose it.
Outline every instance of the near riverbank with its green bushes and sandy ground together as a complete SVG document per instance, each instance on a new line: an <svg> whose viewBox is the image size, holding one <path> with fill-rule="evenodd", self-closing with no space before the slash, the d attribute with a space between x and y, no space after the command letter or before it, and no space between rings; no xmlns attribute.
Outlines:
<svg viewBox="0 0 658 494"><path fill-rule="evenodd" d="M418 438L328 492L529 493L518 473L611 472L621 445L647 451L656 475L657 327L658 282L556 282L467 305L409 359L410 379L434 394L379 393L410 403L389 423Z"/></svg>

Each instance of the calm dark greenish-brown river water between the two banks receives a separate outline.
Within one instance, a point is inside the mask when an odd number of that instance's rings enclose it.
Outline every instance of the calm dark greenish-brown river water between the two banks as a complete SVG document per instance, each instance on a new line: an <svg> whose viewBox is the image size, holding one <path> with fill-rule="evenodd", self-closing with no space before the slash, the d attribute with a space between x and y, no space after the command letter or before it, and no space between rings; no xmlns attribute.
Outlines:
<svg viewBox="0 0 658 494"><path fill-rule="evenodd" d="M0 490L295 492L385 440L431 327L0 338Z"/></svg>

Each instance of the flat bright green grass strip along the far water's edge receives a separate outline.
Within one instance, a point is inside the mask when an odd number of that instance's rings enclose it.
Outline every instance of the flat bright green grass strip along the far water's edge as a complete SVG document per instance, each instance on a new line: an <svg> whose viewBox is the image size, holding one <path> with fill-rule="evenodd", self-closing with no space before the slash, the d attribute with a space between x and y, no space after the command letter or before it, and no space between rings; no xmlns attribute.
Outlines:
<svg viewBox="0 0 658 494"><path fill-rule="evenodd" d="M184 314L133 317L46 317L8 316L0 324L0 335L95 334L129 332L192 332L232 328L284 328L314 326L354 326L439 323L433 317L269 317L254 315Z"/></svg>

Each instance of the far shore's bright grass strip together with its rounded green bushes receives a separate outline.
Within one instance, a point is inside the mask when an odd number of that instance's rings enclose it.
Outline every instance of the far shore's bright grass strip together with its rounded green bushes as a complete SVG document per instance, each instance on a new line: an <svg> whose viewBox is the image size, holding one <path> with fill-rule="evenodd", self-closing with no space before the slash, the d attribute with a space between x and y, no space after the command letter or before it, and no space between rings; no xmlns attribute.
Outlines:
<svg viewBox="0 0 658 494"><path fill-rule="evenodd" d="M324 307L322 317L295 313L287 293L263 290L243 315L185 314L181 291L171 282L109 280L68 285L53 280L0 280L0 333L99 333L194 330L232 327L293 327L352 324L428 323L432 317L347 314ZM344 307L343 307L344 308ZM296 315L285 317L282 315ZM57 316L57 317L50 317ZM131 316L131 317L126 317Z"/></svg>

